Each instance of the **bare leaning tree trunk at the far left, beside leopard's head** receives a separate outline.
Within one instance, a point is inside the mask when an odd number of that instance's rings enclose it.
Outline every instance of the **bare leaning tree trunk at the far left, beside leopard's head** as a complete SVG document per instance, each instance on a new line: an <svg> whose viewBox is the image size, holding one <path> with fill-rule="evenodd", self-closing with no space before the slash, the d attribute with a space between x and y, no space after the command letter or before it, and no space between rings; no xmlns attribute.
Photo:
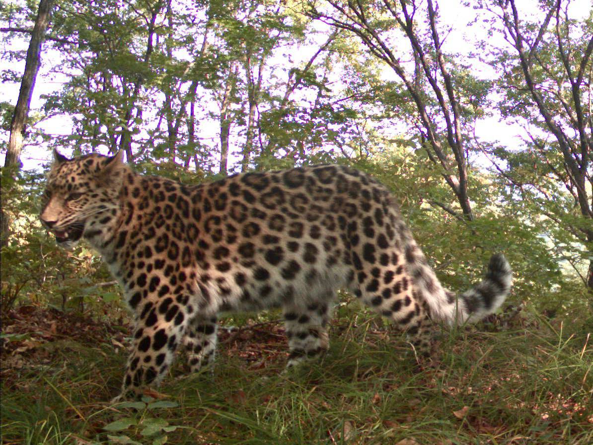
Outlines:
<svg viewBox="0 0 593 445"><path fill-rule="evenodd" d="M3 174L11 174L13 177L21 168L20 157L21 149L23 148L24 131L27 125L31 96L33 96L33 87L35 86L37 71L39 71L41 45L45 37L47 24L52 15L52 7L53 0L41 0L39 2L37 18L33 32L31 33L27 58L25 59L25 71L23 73L23 80L21 80L21 89L18 93L17 105L14 107L14 113L12 114L10 138L8 140ZM6 192L7 190L2 190L2 201L4 201ZM9 222L8 215L5 214L4 209L4 202L2 202L2 212L0 214L0 246L5 246L8 242Z"/></svg>

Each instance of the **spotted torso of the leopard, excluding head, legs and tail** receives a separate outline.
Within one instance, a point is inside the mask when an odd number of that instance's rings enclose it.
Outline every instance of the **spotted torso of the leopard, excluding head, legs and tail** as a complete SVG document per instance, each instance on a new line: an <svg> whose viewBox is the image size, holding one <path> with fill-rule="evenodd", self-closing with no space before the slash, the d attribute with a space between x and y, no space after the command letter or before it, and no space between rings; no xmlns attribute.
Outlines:
<svg viewBox="0 0 593 445"><path fill-rule="evenodd" d="M157 286L183 283L179 291L212 312L311 303L336 288L361 294L378 278L391 284L366 263L401 266L400 286L410 287L403 251L394 251L403 248L397 206L358 170L246 173L199 186L136 176L123 202L109 256L133 307L148 274Z"/></svg>

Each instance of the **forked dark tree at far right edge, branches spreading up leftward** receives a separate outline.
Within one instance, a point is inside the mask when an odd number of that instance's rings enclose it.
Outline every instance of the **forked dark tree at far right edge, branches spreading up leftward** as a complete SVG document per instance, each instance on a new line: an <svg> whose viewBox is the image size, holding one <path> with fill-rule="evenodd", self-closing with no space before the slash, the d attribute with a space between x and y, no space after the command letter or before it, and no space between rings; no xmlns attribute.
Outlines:
<svg viewBox="0 0 593 445"><path fill-rule="evenodd" d="M588 82L586 78L588 77L587 73L591 72L593 37L590 37L588 43L581 46L580 49L573 48L568 27L570 23L568 15L560 16L562 0L556 0L553 4L548 5L546 16L538 27L539 30L535 38L533 37L535 34L531 37L529 34L529 28L532 25L521 22L521 14L517 9L518 2L516 0L499 1L497 4L500 8L499 17L502 20L506 35L509 36L508 40L517 51L522 80L524 80L524 86L527 87L526 91L531 96L531 103L539 112L550 134L556 139L559 149L558 154L564 160L564 171L562 173L557 173L554 169L551 171L553 171L560 184L566 187L575 198L575 202L578 204L583 218L585 218L586 227L591 227L593 206L589 202L593 204L593 199L590 196L591 189L588 185L591 183L591 174L589 172L591 171L591 150L593 148L593 140L591 139L591 126L593 124L590 118L591 94L589 93L589 99L586 98L586 91L590 88L591 82ZM554 31L551 32L554 40L556 40L557 47L554 48L554 51L557 59L553 62L543 62L536 55L543 46L544 36L549 32L549 24L554 16L556 17L556 26ZM558 80L550 79L551 82L544 83L538 77L538 73L542 69L544 72L549 71L549 63L554 62L560 62L558 66L562 67L560 68L561 71L558 72ZM553 85L554 83L558 85L557 90L549 90L547 85ZM565 84L570 85L570 98L572 98L572 101L563 98L565 90L560 85ZM544 88L543 85L546 85L546 87ZM568 91L567 88L566 92L568 93ZM553 102L559 100L562 103L563 107L560 107L560 112L550 106L550 99ZM588 112L582 106L587 100L589 101ZM570 224L568 227L570 227ZM591 252L589 246L593 242L593 231L589 228L580 231L584 233L584 236L578 233L578 239L586 244L589 252ZM589 294L593 295L593 260L589 260L585 284L588 287Z"/></svg>

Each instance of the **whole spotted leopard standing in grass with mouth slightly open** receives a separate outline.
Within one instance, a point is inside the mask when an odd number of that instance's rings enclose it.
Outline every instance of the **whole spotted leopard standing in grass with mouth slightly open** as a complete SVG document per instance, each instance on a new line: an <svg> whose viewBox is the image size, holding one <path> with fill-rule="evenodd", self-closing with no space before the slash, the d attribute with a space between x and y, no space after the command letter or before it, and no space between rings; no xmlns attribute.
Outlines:
<svg viewBox="0 0 593 445"><path fill-rule="evenodd" d="M123 154L55 150L40 212L59 246L85 240L101 255L133 314L113 401L158 386L177 349L191 373L212 363L221 313L280 309L290 368L329 349L340 291L428 355L437 325L482 320L509 294L501 253L470 290L445 289L394 194L360 170L254 170L189 185L137 173Z"/></svg>

